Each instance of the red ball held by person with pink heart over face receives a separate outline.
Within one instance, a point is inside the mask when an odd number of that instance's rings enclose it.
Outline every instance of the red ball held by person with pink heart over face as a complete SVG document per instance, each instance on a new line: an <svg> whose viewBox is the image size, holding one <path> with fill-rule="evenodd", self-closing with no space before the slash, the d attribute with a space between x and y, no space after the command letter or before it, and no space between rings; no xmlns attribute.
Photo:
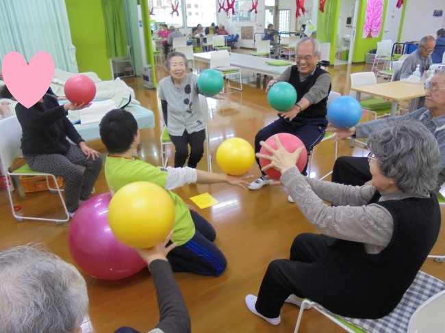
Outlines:
<svg viewBox="0 0 445 333"><path fill-rule="evenodd" d="M96 96L96 85L86 75L73 75L64 85L65 96L75 104L90 103Z"/></svg>

